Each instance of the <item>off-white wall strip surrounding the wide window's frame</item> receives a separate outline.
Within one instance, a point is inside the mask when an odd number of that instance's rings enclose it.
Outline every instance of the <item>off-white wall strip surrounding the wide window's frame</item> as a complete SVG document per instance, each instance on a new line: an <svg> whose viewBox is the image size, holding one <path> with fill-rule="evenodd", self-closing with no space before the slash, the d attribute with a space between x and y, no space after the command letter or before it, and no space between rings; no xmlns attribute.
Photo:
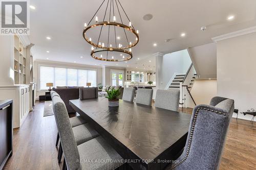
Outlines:
<svg viewBox="0 0 256 170"><path fill-rule="evenodd" d="M45 95L45 90L40 91L39 89L39 72L38 72L38 65L39 64L46 64L46 65L53 65L53 66L65 66L70 68L82 68L82 69L96 69L97 70L97 82L102 83L102 68L91 66L91 65L83 65L83 64L71 64L71 63L65 63L65 62L56 62L56 61L48 61L48 60L38 60L34 62L34 68L33 68L33 76L34 76L34 82L36 83L36 99L39 97L39 95Z"/></svg>

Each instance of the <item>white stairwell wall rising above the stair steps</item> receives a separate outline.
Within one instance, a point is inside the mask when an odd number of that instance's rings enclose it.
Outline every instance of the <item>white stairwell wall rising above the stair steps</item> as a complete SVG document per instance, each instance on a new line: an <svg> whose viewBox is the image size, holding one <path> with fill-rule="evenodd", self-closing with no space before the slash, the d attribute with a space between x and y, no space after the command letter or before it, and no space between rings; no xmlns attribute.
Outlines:
<svg viewBox="0 0 256 170"><path fill-rule="evenodd" d="M160 57L158 57L160 58ZM175 72L186 74L187 69L191 64L191 60L187 50L182 50L164 55L161 59L157 59L157 86L159 89L164 89Z"/></svg>

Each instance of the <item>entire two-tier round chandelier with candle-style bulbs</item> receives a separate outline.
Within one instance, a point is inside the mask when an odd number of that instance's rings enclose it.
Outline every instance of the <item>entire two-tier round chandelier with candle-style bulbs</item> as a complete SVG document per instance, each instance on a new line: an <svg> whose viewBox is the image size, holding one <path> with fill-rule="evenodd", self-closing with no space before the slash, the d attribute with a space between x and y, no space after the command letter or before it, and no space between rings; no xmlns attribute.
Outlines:
<svg viewBox="0 0 256 170"><path fill-rule="evenodd" d="M103 9L102 6L104 3L106 4L106 7ZM96 16L100 9L103 9L104 13L102 21L98 21L98 16ZM129 25L124 24L121 11L123 11L123 15L126 16L125 19ZM117 13L118 16L116 16L115 13ZM95 22L91 23L94 18ZM105 20L106 18L108 18L108 20ZM88 32L90 32L90 30L97 30L96 28L98 28L99 34L95 41L92 37L88 36ZM102 30L104 28L106 29L105 37L102 35ZM125 37L124 43L117 42L120 39L120 37L117 36L118 29L123 30L123 37ZM131 36L129 37L127 34L130 34ZM139 42L139 31L135 31L131 20L127 16L119 0L103 0L90 22L88 24L84 23L82 36L84 40L92 45L91 56L94 59L101 61L128 61L133 58L132 47ZM132 37L134 40L129 41ZM106 43L104 43L104 40Z"/></svg>

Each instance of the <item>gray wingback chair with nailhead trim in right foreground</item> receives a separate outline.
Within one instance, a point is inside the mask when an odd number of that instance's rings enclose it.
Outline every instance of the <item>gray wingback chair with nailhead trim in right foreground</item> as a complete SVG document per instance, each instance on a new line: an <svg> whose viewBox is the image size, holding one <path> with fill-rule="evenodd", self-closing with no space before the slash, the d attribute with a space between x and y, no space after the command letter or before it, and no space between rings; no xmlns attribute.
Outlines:
<svg viewBox="0 0 256 170"><path fill-rule="evenodd" d="M218 169L233 111L234 101L218 96L210 105L196 106L184 151L166 169Z"/></svg>

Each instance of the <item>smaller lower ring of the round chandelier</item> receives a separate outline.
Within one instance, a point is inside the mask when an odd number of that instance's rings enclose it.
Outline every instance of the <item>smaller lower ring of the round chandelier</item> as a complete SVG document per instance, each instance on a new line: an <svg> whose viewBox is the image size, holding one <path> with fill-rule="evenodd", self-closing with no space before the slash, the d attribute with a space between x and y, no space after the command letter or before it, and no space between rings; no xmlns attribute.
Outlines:
<svg viewBox="0 0 256 170"><path fill-rule="evenodd" d="M128 55L130 55L130 57L128 57L128 58L126 57L126 58L120 59L120 60L96 57L95 54L100 53L100 52L119 52L119 53L128 54ZM133 54L129 51L126 51L126 50L115 49L115 48L104 48L104 49L92 50L91 51L91 57L96 59L96 60L101 60L101 61L128 61L128 60L131 60L133 58Z"/></svg>

